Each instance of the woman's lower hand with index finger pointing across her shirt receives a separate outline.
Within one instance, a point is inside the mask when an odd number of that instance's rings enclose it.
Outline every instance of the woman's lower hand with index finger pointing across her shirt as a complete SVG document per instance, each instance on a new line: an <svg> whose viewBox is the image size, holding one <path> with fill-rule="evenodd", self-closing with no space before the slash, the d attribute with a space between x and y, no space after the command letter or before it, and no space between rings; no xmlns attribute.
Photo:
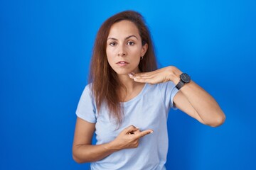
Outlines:
<svg viewBox="0 0 256 170"><path fill-rule="evenodd" d="M149 135L153 130L140 131L139 128L130 125L122 130L119 135L111 142L113 149L136 148L139 146L139 139Z"/></svg>

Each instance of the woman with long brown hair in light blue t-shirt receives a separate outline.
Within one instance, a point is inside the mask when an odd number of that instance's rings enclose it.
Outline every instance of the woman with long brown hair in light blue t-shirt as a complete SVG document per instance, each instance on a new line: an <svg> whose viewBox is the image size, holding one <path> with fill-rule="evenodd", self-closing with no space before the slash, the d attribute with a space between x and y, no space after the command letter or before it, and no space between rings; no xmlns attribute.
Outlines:
<svg viewBox="0 0 256 170"><path fill-rule="evenodd" d="M117 13L97 33L90 84L76 111L73 159L91 162L91 169L165 169L170 108L213 127L225 120L218 103L188 74L173 66L156 69L139 13Z"/></svg>

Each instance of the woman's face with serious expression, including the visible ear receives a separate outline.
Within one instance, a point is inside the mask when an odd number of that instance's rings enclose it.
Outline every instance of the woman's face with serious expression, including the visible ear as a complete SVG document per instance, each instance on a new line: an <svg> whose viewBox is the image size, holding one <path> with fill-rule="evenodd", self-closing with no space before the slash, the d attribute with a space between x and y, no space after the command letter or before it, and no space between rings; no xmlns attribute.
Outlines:
<svg viewBox="0 0 256 170"><path fill-rule="evenodd" d="M140 57L145 55L147 46L142 46L142 38L134 23L119 21L112 25L107 38L107 61L119 75L139 72Z"/></svg>

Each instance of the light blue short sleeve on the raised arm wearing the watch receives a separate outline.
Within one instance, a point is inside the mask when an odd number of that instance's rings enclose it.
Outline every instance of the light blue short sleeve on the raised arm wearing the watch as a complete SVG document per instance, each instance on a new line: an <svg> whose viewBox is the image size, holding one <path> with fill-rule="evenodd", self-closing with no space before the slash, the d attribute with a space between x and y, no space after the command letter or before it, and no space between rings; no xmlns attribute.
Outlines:
<svg viewBox="0 0 256 170"><path fill-rule="evenodd" d="M164 104L166 108L174 108L174 96L178 93L178 89L176 89L176 85L172 81L168 81L166 83L160 84L161 86L161 96L163 96Z"/></svg>

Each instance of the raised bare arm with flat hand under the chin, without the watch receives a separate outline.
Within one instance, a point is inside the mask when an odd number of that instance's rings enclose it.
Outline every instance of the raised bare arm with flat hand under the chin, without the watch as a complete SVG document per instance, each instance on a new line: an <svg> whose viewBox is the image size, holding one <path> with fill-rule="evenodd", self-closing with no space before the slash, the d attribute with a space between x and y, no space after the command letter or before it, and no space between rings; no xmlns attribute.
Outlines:
<svg viewBox="0 0 256 170"><path fill-rule="evenodd" d="M173 81L174 84L178 84L181 73L176 67L164 67L154 72L129 74L129 76L134 81L143 83L157 84ZM185 84L178 91L178 94L174 97L174 104L181 111L205 125L216 127L225 121L225 114L215 99L193 81Z"/></svg>

